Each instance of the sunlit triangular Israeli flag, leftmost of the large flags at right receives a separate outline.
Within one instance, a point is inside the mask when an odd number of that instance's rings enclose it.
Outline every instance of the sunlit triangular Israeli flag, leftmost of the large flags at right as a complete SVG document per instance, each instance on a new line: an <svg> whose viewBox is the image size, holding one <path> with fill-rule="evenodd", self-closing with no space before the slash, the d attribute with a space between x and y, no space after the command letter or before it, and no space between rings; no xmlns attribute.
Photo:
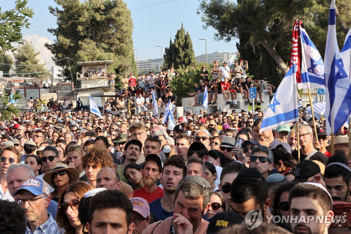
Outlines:
<svg viewBox="0 0 351 234"><path fill-rule="evenodd" d="M261 123L261 132L298 121L296 72L293 65L273 96Z"/></svg>

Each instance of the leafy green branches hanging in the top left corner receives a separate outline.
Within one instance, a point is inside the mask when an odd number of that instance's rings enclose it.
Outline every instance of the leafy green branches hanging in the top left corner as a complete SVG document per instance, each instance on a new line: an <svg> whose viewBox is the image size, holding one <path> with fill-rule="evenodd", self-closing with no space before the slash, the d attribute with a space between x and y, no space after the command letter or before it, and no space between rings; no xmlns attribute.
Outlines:
<svg viewBox="0 0 351 234"><path fill-rule="evenodd" d="M23 41L21 30L29 28L28 18L34 15L33 9L26 5L27 0L17 0L15 9L2 12L0 7L0 48L3 51L14 52L16 48L11 43Z"/></svg>

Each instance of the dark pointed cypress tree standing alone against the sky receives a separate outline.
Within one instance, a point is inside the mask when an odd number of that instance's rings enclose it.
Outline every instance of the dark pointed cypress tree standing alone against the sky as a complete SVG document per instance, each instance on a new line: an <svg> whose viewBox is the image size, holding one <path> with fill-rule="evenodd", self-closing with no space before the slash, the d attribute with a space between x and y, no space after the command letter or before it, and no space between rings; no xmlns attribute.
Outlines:
<svg viewBox="0 0 351 234"><path fill-rule="evenodd" d="M175 69L179 69L196 64L193 43L190 34L185 33L183 23L176 33L174 42L170 39L170 47L165 48L164 59L163 68L173 66Z"/></svg>

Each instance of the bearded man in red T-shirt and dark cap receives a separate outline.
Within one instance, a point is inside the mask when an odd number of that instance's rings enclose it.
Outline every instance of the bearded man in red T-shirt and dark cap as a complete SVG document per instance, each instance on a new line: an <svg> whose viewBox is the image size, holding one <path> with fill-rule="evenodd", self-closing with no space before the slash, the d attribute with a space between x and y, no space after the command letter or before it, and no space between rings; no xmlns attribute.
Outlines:
<svg viewBox="0 0 351 234"><path fill-rule="evenodd" d="M158 187L156 182L161 179L162 165L161 159L156 154L146 156L143 162L143 183L144 187L134 190L133 198L144 198L148 203L163 197L163 189Z"/></svg>

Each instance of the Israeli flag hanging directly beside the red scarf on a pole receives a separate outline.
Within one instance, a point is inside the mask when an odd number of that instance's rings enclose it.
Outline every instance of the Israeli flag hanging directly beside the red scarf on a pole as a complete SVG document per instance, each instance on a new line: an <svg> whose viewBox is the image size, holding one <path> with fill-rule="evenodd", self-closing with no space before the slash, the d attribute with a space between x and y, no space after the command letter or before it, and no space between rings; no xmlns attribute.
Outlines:
<svg viewBox="0 0 351 234"><path fill-rule="evenodd" d="M297 87L302 88L323 88L325 89L324 80L324 63L316 46L314 46L305 29L300 27L301 40L301 80Z"/></svg>

